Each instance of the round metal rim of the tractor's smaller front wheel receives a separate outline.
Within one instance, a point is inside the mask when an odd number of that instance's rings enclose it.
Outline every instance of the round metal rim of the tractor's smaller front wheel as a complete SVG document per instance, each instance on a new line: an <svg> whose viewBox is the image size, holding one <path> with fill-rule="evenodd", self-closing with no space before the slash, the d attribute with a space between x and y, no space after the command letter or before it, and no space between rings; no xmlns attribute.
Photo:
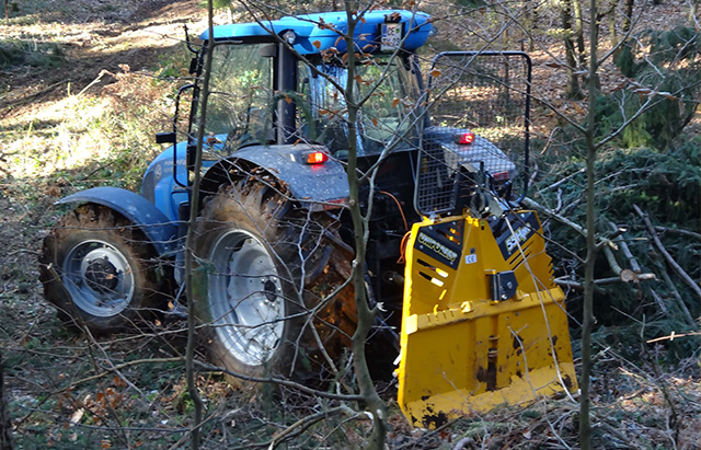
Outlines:
<svg viewBox="0 0 701 450"><path fill-rule="evenodd" d="M83 241L68 252L61 280L76 307L108 318L124 311L134 297L134 270L126 256L103 241Z"/></svg>

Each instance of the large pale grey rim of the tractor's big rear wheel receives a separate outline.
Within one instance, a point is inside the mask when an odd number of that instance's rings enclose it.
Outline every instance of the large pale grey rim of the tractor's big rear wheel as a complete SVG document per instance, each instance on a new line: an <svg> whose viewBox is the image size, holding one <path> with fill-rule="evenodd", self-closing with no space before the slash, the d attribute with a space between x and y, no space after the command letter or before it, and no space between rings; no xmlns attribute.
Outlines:
<svg viewBox="0 0 701 450"><path fill-rule="evenodd" d="M253 234L232 230L216 242L210 261L209 312L226 350L249 366L268 361L285 327L280 278L267 247Z"/></svg>

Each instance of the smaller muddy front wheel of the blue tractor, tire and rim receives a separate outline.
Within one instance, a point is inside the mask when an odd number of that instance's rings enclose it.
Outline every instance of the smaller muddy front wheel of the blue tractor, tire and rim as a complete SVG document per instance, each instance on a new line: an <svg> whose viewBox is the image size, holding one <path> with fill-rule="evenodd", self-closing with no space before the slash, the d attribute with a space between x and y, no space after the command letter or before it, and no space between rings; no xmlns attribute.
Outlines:
<svg viewBox="0 0 701 450"><path fill-rule="evenodd" d="M165 303L165 276L143 233L112 209L88 204L44 239L39 280L66 325L107 334L152 319Z"/></svg>

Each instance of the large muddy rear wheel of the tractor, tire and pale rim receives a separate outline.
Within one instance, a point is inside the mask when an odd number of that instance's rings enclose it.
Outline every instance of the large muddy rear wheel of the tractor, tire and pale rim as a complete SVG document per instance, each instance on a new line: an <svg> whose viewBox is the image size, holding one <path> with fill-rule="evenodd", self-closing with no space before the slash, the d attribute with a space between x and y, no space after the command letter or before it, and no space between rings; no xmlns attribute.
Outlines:
<svg viewBox="0 0 701 450"><path fill-rule="evenodd" d="M329 238L335 233L325 216L308 217L279 186L260 181L205 200L194 249L197 318L214 362L243 376L229 377L232 384L323 380L325 359L349 345L353 289L322 303L350 269L353 254Z"/></svg>

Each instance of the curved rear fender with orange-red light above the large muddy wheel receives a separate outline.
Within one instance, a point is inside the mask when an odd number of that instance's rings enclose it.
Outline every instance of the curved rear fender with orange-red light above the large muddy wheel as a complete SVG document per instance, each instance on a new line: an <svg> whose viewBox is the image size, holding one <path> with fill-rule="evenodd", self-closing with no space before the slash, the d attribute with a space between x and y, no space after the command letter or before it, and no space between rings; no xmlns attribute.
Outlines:
<svg viewBox="0 0 701 450"><path fill-rule="evenodd" d="M292 197L303 207L315 211L345 205L348 195L346 172L336 160L323 164L306 164L306 153L323 150L321 146L251 146L235 151L230 158L217 162L205 174L203 195L211 195L220 185L256 175L260 169L289 188Z"/></svg>

